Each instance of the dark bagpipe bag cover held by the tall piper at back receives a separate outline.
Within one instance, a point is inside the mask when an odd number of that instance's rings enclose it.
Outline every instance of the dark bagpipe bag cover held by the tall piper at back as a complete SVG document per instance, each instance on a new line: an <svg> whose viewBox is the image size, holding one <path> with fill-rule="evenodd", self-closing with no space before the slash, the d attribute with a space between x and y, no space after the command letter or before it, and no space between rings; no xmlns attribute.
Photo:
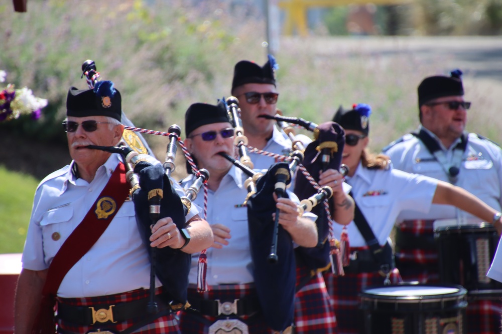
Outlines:
<svg viewBox="0 0 502 334"><path fill-rule="evenodd" d="M340 170L343 147L345 145L345 131L343 128L335 122L325 122L317 126L318 131L314 133L314 141L312 141L305 148L305 158L303 159L303 165L310 173L310 175L319 181L319 173L322 171L322 161L321 154L317 147L321 143L334 142L336 143L337 150L331 155L329 160L328 169ZM321 145L322 146L322 145ZM303 177L303 175L297 175L295 179L295 194L300 200L309 198L310 196L317 193L309 181ZM330 201L330 212L333 214L334 208ZM306 248L297 247L296 252L300 257L299 260L308 266L310 269L325 268L329 263L329 241L327 240L329 234L329 222L326 215L326 210L324 209L324 204L319 203L312 209L312 213L318 216L316 220L317 233L319 235L319 241L316 247Z"/></svg>

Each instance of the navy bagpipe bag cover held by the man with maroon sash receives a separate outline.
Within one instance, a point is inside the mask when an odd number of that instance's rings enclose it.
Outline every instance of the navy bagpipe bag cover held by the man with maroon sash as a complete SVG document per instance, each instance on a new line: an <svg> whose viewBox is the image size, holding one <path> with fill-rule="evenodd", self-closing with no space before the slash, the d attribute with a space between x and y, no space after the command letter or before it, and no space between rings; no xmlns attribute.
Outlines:
<svg viewBox="0 0 502 334"><path fill-rule="evenodd" d="M150 246L150 208L148 192L153 189L163 189L161 200L160 218L171 217L176 226L185 227L186 207L182 204L179 195L172 188L169 178L162 165L152 165L140 161L134 169L140 179L141 189L133 194L136 211L136 222L140 231L143 244L147 247L148 254L152 256ZM159 219L160 219L159 218ZM164 286L164 291L175 303L185 304L187 300L188 272L190 271L191 255L171 247L155 248L156 263L155 273ZM168 300L168 302L171 300Z"/></svg>

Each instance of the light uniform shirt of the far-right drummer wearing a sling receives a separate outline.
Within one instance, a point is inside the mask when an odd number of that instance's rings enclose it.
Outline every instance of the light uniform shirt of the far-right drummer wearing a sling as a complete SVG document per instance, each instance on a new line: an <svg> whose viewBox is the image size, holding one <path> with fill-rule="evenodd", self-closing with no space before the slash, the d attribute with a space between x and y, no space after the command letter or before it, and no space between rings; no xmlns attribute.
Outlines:
<svg viewBox="0 0 502 334"><path fill-rule="evenodd" d="M447 161L451 161L453 148L460 142L460 138L446 149L434 134L430 131L428 133L438 141ZM390 156L396 169L449 182L441 164L434 159L422 141L411 134L405 135L402 141L391 144L387 150L384 149L384 154ZM495 210L500 210L502 150L490 141L480 139L476 134L469 134L455 185L471 192ZM437 204L432 205L428 213L417 214L406 211L398 218L398 220L408 219L457 219L458 224L464 224L466 221L479 222L479 218L454 206Z"/></svg>

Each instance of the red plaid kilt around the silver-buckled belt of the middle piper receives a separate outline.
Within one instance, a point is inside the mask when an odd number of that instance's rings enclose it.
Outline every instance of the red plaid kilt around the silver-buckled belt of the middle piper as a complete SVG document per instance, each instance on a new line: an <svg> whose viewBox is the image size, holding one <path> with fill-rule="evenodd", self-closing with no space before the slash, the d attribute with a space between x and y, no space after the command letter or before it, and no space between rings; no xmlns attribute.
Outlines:
<svg viewBox="0 0 502 334"><path fill-rule="evenodd" d="M208 291L197 292L194 285L188 288L188 302L190 299L220 299L233 300L252 296L256 294L255 284L225 284L209 286ZM221 319L228 316L222 316ZM265 323L261 312L251 316L243 315L238 317L240 321L247 324L249 333L271 334L270 329ZM204 334L208 333L209 326L213 324L217 317L201 315L194 311L182 311L180 313L180 328L183 334Z"/></svg>

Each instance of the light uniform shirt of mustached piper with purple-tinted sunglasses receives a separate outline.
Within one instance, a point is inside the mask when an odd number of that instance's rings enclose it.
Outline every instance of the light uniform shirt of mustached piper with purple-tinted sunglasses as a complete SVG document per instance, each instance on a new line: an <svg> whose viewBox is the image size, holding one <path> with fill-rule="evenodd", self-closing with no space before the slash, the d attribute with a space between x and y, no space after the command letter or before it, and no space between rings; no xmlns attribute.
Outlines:
<svg viewBox="0 0 502 334"><path fill-rule="evenodd" d="M182 181L183 187L188 187L193 175ZM240 169L232 166L223 177L216 191L208 190L207 217L209 224L222 224L230 228L231 238L228 245L222 249L210 247L207 249L208 285L244 284L254 282L253 262L249 248L249 233L247 227L247 207L242 205L247 196L244 180L247 179ZM299 203L298 198L288 191L290 198ZM204 195L201 190L194 201L203 207ZM308 213L305 216L315 220L317 216ZM192 266L189 282L197 283L197 266L199 254L192 254Z"/></svg>

